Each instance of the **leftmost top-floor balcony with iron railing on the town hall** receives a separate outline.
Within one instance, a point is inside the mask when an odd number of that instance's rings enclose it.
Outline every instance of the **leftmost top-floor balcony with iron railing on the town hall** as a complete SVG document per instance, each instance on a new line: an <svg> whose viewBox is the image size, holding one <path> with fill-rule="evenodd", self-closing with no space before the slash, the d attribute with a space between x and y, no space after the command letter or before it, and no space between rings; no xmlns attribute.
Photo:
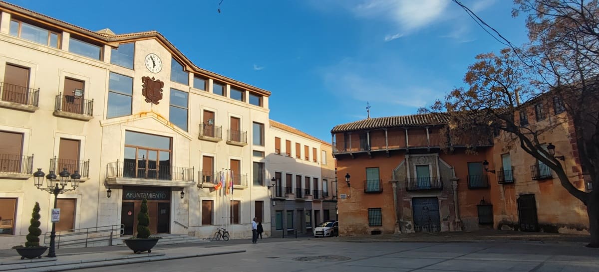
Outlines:
<svg viewBox="0 0 599 272"><path fill-rule="evenodd" d="M39 108L40 88L0 82L0 107L34 112Z"/></svg>

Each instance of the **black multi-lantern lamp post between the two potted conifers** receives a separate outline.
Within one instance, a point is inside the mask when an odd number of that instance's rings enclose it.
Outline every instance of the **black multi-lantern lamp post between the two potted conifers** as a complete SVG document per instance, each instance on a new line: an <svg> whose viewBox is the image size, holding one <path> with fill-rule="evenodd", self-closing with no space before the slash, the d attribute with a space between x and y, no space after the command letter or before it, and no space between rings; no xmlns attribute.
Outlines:
<svg viewBox="0 0 599 272"><path fill-rule="evenodd" d="M68 191L73 191L75 189L77 189L77 187L79 186L79 182L81 181L81 175L79 175L79 173L77 173L78 171L75 170L74 173L69 173L66 168L62 169L62 172L60 172L58 175L60 176L60 178L58 179L57 182L57 176L54 173L54 171L50 171L50 173L48 175L46 175L46 180L47 180L47 188L43 188L42 185L44 184L44 172L41 171L41 168L38 168L37 172L34 173L34 184L35 187L37 187L39 190L43 190L43 191L47 191L50 194L54 195L54 209L56 209L56 204L58 202L58 195L62 194L63 192L68 192ZM68 184L69 182L69 178L71 181L71 186L72 189L69 188L65 188L66 184ZM56 252L54 249L54 240L56 238L56 222L52 222L52 232L50 232L50 251L48 252L48 257L56 257Z"/></svg>

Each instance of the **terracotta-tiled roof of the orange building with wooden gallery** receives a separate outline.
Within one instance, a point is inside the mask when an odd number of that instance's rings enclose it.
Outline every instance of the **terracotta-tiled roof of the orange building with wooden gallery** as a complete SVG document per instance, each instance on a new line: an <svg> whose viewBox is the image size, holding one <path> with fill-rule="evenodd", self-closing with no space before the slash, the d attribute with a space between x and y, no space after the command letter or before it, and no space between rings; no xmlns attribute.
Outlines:
<svg viewBox="0 0 599 272"><path fill-rule="evenodd" d="M447 124L447 117L442 114L415 114L391 117L368 118L352 123L340 124L331 133L352 132L365 129L383 129L391 127L419 127Z"/></svg>

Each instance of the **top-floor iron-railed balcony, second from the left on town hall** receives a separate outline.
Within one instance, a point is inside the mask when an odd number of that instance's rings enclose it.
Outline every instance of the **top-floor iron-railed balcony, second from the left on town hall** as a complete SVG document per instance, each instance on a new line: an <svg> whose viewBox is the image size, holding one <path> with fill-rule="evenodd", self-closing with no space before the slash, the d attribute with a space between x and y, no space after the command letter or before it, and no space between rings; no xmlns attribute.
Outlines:
<svg viewBox="0 0 599 272"><path fill-rule="evenodd" d="M83 96L67 96L58 94L54 105L54 115L89 121L93 118L93 99L83 99Z"/></svg>

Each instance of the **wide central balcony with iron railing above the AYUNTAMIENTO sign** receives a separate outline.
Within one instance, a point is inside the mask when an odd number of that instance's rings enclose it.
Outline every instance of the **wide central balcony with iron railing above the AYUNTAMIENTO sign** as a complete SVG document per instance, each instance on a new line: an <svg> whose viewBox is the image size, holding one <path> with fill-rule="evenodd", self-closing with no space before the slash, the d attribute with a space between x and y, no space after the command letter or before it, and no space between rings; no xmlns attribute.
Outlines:
<svg viewBox="0 0 599 272"><path fill-rule="evenodd" d="M141 166L135 162L117 160L106 166L106 183L120 186L192 187L193 167L161 166L155 163Z"/></svg>

